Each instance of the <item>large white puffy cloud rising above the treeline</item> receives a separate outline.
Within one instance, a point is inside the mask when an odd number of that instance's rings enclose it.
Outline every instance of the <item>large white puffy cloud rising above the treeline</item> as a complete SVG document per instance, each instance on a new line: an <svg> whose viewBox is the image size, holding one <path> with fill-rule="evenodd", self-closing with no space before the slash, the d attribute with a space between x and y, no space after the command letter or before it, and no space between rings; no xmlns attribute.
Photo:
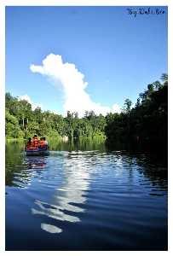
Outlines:
<svg viewBox="0 0 173 256"><path fill-rule="evenodd" d="M85 91L88 83L84 81L84 74L80 73L72 63L63 63L61 55L50 54L43 60L42 66L31 65L32 73L41 73L55 82L61 82L64 90L64 111L78 112L83 116L85 111L93 110L96 114L106 115L109 112L120 113L118 104L112 108L93 102ZM57 83L59 84L59 83Z"/></svg>

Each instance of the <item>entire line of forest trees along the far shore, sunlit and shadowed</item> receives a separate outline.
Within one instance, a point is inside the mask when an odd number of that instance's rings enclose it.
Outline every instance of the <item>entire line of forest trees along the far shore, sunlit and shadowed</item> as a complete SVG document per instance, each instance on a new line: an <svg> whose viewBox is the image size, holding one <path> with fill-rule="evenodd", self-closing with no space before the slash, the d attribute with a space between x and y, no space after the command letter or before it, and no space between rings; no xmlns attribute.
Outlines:
<svg viewBox="0 0 173 256"><path fill-rule="evenodd" d="M161 81L161 82L160 82ZM150 148L167 148L168 140L168 75L163 73L160 81L147 84L132 108L130 99L124 101L121 113L96 115L86 111L83 118L67 111L61 114L32 110L26 100L19 100L6 93L6 138L25 139L37 134L55 139L94 138L106 139L107 144L130 143Z"/></svg>

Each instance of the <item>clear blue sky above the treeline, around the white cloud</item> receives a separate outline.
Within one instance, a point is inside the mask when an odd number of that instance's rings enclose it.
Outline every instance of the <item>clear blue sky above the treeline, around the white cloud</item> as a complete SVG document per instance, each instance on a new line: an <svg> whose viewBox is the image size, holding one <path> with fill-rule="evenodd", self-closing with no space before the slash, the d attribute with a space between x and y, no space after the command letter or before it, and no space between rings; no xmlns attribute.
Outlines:
<svg viewBox="0 0 173 256"><path fill-rule="evenodd" d="M127 97L136 103L147 84L167 73L167 9L134 17L127 8L6 7L6 91L58 113L72 101L80 108L83 96L95 108L123 106ZM84 74L84 94L80 83L69 84L74 93L66 103L66 84L52 83L52 73L32 72L30 66L41 67L50 54Z"/></svg>

